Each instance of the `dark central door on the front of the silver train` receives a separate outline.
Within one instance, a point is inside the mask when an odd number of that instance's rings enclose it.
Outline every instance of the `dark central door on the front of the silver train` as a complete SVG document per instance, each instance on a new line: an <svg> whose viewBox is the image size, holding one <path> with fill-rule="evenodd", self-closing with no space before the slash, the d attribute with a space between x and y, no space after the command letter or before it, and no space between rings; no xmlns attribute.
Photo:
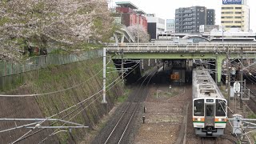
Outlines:
<svg viewBox="0 0 256 144"><path fill-rule="evenodd" d="M205 128L207 134L212 134L214 130L214 104L207 104L205 106Z"/></svg>

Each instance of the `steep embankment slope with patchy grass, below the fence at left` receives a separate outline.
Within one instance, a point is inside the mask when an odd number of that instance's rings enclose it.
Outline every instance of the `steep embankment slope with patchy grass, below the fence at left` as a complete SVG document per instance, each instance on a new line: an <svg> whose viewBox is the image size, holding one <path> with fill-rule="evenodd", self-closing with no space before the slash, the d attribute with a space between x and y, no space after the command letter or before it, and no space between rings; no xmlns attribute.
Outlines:
<svg viewBox="0 0 256 144"><path fill-rule="evenodd" d="M114 64L110 62L107 67L114 67ZM22 86L7 94L39 94L39 96L0 98L1 118L47 118L74 106L53 118L63 118L66 121L89 126L89 128L66 131L34 129L29 134L26 132L30 129L10 130L0 134L0 143L14 142L23 134L26 136L19 143L38 143L43 139L46 139L45 143L77 143L82 141L86 137L86 133L94 130L94 126L112 109L115 99L122 96L121 83L119 81L114 82L118 78L118 74L111 72L106 77L108 103L103 105L101 103L102 92L98 93L102 90L102 58L62 66L48 66L45 69L27 72L24 74ZM46 94L54 91L57 93ZM84 101L86 98L90 99ZM0 130L27 123L30 122L0 122ZM42 126L62 126L62 124L64 123L43 122Z"/></svg>

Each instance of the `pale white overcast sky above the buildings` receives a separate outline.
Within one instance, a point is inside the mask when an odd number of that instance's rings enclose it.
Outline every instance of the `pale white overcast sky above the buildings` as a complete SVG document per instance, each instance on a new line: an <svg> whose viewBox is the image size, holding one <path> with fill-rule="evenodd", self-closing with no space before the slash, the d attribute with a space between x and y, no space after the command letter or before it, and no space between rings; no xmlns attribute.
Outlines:
<svg viewBox="0 0 256 144"><path fill-rule="evenodd" d="M206 6L207 9L216 10L216 24L221 23L222 0L110 0L115 2L132 2L138 9L146 13L154 13L159 18L174 19L175 9L179 7ZM256 0L247 0L250 6L250 29L256 32ZM112 4L112 6L115 6Z"/></svg>

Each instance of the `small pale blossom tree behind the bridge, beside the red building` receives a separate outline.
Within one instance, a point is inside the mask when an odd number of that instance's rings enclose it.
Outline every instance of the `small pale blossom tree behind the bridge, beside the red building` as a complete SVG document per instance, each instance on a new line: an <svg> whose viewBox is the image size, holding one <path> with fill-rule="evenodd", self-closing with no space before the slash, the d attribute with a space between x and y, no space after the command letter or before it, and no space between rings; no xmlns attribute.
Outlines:
<svg viewBox="0 0 256 144"><path fill-rule="evenodd" d="M129 30L130 34L134 36L134 38L139 42L149 42L150 35L146 32L143 26L128 26L127 29Z"/></svg>

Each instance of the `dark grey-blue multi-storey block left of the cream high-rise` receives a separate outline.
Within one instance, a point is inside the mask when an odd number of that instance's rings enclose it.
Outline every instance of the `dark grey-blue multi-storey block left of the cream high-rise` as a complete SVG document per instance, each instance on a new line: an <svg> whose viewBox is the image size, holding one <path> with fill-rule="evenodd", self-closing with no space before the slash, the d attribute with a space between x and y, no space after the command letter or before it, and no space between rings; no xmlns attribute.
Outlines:
<svg viewBox="0 0 256 144"><path fill-rule="evenodd" d="M191 6L175 10L176 33L199 33L200 25L214 25L215 10Z"/></svg>

